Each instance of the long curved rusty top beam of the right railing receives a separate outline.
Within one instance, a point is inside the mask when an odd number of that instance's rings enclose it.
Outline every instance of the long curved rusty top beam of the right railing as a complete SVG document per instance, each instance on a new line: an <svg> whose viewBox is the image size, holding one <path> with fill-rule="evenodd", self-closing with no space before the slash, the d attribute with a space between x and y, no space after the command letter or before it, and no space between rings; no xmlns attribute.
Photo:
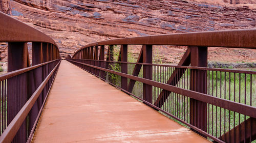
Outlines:
<svg viewBox="0 0 256 143"><path fill-rule="evenodd" d="M254 43L256 43L256 29L251 28L246 30L191 32L105 40L83 46L74 55L81 49L100 45L179 45L255 49Z"/></svg>

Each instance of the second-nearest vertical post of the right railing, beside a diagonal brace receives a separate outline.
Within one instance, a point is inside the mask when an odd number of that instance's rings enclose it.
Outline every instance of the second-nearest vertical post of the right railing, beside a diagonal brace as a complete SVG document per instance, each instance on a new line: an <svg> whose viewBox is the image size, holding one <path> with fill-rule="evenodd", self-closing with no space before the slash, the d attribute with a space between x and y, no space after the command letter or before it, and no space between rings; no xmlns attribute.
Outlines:
<svg viewBox="0 0 256 143"><path fill-rule="evenodd" d="M143 45L143 63L152 64L152 45ZM143 78L152 79L152 66L143 65ZM152 103L152 85L143 83L143 99Z"/></svg>

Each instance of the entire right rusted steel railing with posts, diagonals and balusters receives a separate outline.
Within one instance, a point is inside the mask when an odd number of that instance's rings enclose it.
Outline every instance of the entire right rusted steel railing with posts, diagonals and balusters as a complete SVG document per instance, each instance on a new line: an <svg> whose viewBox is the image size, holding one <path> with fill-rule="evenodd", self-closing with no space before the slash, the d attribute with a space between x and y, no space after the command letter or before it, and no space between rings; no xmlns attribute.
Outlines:
<svg viewBox="0 0 256 143"><path fill-rule="evenodd" d="M114 45L121 45L117 61ZM128 45L142 45L136 63L127 62ZM152 64L153 45L188 48L171 66ZM67 60L211 141L251 142L256 71L207 68L207 47L255 49L256 29L108 40L84 46Z"/></svg>

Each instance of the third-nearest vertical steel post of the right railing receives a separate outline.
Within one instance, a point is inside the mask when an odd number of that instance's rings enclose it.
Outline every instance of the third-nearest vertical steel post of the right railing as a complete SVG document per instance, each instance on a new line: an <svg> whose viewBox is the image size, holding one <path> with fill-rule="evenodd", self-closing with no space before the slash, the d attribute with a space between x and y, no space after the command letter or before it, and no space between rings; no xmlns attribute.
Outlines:
<svg viewBox="0 0 256 143"><path fill-rule="evenodd" d="M121 45L121 62L127 62L127 45ZM121 63L121 72L127 73L127 63ZM121 88L127 91L127 78L121 77Z"/></svg>

